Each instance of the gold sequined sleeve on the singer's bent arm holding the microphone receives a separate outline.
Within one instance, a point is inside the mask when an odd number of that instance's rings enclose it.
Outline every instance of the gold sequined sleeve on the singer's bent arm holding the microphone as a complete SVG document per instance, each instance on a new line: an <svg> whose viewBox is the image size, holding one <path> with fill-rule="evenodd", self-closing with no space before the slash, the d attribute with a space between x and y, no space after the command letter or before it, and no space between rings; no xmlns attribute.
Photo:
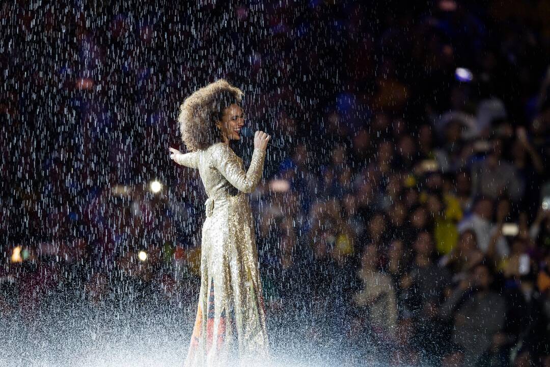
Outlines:
<svg viewBox="0 0 550 367"><path fill-rule="evenodd" d="M255 148L250 167L244 172L239 164L239 157L226 144L219 144L212 153L213 166L239 191L251 193L262 177L265 149Z"/></svg>

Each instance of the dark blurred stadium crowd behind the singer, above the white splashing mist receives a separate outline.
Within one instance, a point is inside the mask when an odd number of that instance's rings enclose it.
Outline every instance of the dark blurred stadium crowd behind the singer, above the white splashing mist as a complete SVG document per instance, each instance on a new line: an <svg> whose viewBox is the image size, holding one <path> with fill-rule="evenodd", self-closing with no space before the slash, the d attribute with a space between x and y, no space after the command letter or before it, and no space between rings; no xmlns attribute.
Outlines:
<svg viewBox="0 0 550 367"><path fill-rule="evenodd" d="M217 75L277 145L250 198L271 327L550 367L548 2L139 5L0 7L0 317L193 312L206 197L168 147Z"/></svg>

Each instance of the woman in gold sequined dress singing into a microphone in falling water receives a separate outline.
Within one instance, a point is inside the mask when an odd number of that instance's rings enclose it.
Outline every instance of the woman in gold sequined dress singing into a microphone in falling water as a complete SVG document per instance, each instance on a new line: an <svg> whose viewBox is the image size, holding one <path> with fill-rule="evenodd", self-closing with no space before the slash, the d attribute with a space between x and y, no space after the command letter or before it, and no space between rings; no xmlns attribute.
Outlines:
<svg viewBox="0 0 550 367"><path fill-rule="evenodd" d="M248 197L262 176L270 136L256 132L248 171L229 147L244 125L243 92L217 80L186 98L180 132L190 151L170 148L179 165L199 169L208 200L202 226L201 287L185 367L265 363L266 312ZM229 363L232 360L233 363Z"/></svg>

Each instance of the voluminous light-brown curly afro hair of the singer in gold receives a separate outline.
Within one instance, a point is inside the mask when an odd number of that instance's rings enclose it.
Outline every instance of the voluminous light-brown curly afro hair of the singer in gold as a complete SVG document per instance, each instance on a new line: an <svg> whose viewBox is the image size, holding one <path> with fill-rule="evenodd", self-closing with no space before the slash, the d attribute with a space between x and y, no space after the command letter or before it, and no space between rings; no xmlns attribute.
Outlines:
<svg viewBox="0 0 550 367"><path fill-rule="evenodd" d="M178 117L182 140L189 151L204 150L222 140L216 122L221 120L226 107L240 105L243 91L225 79L195 91L185 98Z"/></svg>

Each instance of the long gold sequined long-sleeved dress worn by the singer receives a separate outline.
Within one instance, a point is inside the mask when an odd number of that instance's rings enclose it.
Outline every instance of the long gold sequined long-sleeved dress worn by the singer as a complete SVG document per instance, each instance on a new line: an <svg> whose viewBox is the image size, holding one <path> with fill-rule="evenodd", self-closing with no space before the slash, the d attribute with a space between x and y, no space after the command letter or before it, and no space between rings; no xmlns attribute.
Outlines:
<svg viewBox="0 0 550 367"><path fill-rule="evenodd" d="M247 172L224 143L178 154L174 161L199 169L208 200L202 226L199 304L184 367L264 364L266 311L258 269L254 222L246 193L260 182L265 150L254 149Z"/></svg>

